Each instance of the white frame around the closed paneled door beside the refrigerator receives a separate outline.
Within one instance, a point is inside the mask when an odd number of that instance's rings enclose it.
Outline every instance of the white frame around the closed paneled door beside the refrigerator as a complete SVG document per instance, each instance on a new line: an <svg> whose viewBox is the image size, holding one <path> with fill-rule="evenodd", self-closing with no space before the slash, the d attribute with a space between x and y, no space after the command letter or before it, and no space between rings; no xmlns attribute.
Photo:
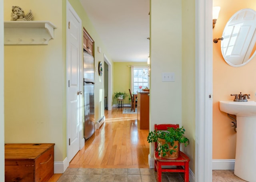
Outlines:
<svg viewBox="0 0 256 182"><path fill-rule="evenodd" d="M79 51L79 55L80 55L80 62L79 62L79 80L80 80L80 82L79 82L79 90L82 90L82 85L83 85L83 82L82 82L82 20L80 19L80 17L78 16L78 14L76 13L76 11L74 10L74 8L71 6L71 4L68 2L68 0L66 0L66 16L68 16L68 11L70 11L72 14L73 14L73 16L78 20L78 22L79 22L79 27L80 27L80 29L81 29L81 31L80 31L80 34L79 34L79 45L80 45L80 48L81 49L79 49L80 51ZM66 20L67 20L67 18L66 18ZM67 21L66 21L67 22ZM66 25L66 32L67 32L67 30L68 30L68 25ZM66 33L66 39L67 39L67 36L68 36L68 34ZM66 50L68 49L68 44L66 44ZM68 101L68 77L67 77L67 75L68 75L68 65L67 65L67 55L66 55L66 100ZM83 130L82 130L82 121L83 121L83 119L82 119L82 96L80 96L79 97L79 146L80 146L80 150L84 147L84 135L83 135ZM69 112L69 110L68 110L68 103L66 103L66 126L68 126L68 112ZM69 152L69 150L68 150L68 132L69 132L69 130L68 130L68 127L66 127L66 149L67 149L67 157L68 157L68 152ZM72 159L68 159L68 162L70 162Z"/></svg>

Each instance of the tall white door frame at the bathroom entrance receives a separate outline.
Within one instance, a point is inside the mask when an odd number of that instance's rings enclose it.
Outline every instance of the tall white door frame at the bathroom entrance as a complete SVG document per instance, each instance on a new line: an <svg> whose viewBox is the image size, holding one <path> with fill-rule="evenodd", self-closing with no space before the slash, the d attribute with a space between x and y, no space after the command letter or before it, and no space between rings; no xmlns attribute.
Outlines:
<svg viewBox="0 0 256 182"><path fill-rule="evenodd" d="M196 0L195 181L212 181L212 0Z"/></svg>

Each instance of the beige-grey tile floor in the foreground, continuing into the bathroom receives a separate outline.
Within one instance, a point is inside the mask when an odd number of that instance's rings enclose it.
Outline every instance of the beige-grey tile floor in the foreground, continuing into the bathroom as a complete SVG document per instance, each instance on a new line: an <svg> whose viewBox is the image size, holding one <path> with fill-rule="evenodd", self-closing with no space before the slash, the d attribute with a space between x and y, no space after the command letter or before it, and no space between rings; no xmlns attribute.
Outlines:
<svg viewBox="0 0 256 182"><path fill-rule="evenodd" d="M184 182L184 174L163 172L162 182ZM149 168L68 168L57 182L156 182ZM212 170L212 182L246 182L234 170Z"/></svg>

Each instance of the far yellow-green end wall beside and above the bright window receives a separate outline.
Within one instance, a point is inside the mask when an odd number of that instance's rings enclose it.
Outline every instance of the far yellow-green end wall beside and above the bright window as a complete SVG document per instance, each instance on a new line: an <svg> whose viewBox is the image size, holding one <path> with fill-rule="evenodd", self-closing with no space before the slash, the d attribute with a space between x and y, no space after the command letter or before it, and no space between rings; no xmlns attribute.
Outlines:
<svg viewBox="0 0 256 182"><path fill-rule="evenodd" d="M129 88L131 88L131 65L134 66L143 66L147 67L148 64L146 62L143 63L130 63L130 62L114 62L114 70L113 70L113 77L114 77L114 90L113 90L113 104L116 104L116 99L114 98L114 92L126 92L128 97L125 98L124 104L130 104L129 97L130 92Z"/></svg>

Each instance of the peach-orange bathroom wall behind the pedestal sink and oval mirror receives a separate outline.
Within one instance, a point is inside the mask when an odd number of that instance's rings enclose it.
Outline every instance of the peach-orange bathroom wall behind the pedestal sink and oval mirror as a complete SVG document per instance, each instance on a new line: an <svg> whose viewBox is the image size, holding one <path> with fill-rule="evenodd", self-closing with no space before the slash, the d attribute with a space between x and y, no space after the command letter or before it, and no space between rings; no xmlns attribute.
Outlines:
<svg viewBox="0 0 256 182"><path fill-rule="evenodd" d="M232 5L232 6L231 6ZM255 0L214 0L213 6L220 6L220 14L213 29L213 38L222 37L224 27L231 16L243 8L256 10ZM256 57L243 67L231 67L223 59L220 42L213 43L213 159L235 159L236 133L230 126L231 119L220 112L220 100L233 100L230 94L251 94L256 92Z"/></svg>

